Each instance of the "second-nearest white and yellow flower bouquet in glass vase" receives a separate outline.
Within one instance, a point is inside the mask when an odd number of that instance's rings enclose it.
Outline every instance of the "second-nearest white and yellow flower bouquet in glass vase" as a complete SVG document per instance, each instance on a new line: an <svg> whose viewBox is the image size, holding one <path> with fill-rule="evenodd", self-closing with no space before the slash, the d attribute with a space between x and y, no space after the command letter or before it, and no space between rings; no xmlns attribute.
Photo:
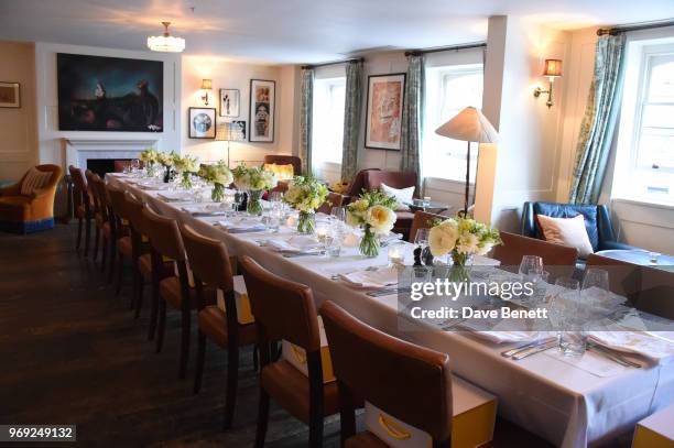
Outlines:
<svg viewBox="0 0 674 448"><path fill-rule="evenodd" d="M347 223L363 230L359 250L366 256L379 254L379 234L388 234L395 223L395 198L379 190L366 192L347 206Z"/></svg>

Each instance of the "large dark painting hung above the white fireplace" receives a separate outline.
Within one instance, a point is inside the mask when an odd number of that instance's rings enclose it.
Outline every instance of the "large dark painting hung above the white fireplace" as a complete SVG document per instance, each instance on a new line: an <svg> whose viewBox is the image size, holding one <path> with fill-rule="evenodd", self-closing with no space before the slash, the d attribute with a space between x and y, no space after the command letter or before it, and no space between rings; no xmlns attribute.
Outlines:
<svg viewBox="0 0 674 448"><path fill-rule="evenodd" d="M58 130L162 132L164 63L56 54Z"/></svg>

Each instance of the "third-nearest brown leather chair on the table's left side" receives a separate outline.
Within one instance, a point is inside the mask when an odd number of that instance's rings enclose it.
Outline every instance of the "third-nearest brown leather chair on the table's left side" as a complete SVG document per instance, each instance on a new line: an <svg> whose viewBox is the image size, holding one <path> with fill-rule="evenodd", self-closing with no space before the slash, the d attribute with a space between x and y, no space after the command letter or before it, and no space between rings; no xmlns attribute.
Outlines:
<svg viewBox="0 0 674 448"><path fill-rule="evenodd" d="M202 387L206 340L227 350L227 396L225 402L225 428L231 426L237 403L239 375L239 347L256 343L254 324L241 325L237 320L237 302L233 293L233 277L229 253L225 243L197 233L192 227L182 225L181 233L187 251L189 267L196 286L199 337L197 346L194 393ZM227 313L217 305L206 306L205 291L213 297L214 291L221 291Z"/></svg>

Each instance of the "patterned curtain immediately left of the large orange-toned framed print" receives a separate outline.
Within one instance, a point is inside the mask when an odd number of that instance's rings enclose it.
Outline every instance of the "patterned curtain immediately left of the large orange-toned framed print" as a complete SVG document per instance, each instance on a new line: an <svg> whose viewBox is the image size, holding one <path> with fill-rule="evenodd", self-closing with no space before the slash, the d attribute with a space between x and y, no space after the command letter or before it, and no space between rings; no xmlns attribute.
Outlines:
<svg viewBox="0 0 674 448"><path fill-rule="evenodd" d="M346 66L346 98L344 102L344 138L341 150L341 179L349 181L358 172L358 131L362 110L362 61Z"/></svg>

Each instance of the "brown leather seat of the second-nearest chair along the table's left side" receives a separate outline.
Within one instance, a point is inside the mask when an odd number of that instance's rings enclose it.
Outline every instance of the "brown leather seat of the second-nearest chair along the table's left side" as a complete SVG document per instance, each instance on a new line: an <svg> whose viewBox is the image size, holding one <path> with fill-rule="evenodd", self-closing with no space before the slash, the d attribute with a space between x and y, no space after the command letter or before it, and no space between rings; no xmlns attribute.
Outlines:
<svg viewBox="0 0 674 448"><path fill-rule="evenodd" d="M309 382L290 362L283 360L262 369L261 385L285 411L300 420L309 420ZM337 382L323 385L324 415L339 412Z"/></svg>

